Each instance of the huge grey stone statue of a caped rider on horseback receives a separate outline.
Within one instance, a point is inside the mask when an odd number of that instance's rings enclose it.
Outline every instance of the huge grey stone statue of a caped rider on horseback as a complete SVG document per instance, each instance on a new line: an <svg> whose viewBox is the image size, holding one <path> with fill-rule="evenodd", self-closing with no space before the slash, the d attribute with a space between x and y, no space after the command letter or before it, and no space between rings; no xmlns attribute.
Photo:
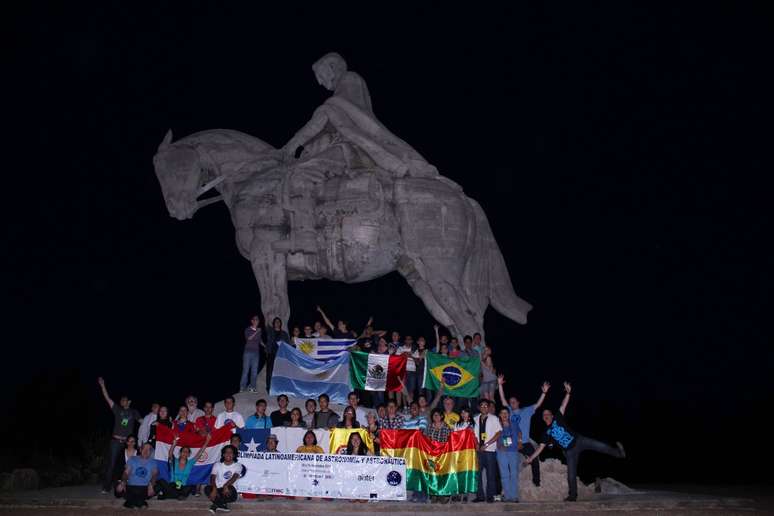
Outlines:
<svg viewBox="0 0 774 516"><path fill-rule="evenodd" d="M483 335L489 304L526 323L531 305L514 292L481 206L378 125L364 82L337 59L315 64L318 81L335 90L315 112L324 123L313 119L286 148L232 130L175 142L168 132L153 162L170 215L226 204L267 321L287 324L289 280L357 283L397 270L452 335ZM357 117L369 132L358 132Z"/></svg>

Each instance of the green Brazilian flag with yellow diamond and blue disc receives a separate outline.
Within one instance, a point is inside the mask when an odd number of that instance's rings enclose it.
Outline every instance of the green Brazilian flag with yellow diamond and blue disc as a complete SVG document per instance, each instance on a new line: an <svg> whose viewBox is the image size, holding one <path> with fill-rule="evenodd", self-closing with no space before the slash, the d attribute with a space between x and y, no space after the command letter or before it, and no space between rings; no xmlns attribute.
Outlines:
<svg viewBox="0 0 774 516"><path fill-rule="evenodd" d="M477 398L481 374L481 359L474 357L450 358L438 353L427 352L425 356L425 380L423 389L437 391L441 378L446 392L458 398Z"/></svg>

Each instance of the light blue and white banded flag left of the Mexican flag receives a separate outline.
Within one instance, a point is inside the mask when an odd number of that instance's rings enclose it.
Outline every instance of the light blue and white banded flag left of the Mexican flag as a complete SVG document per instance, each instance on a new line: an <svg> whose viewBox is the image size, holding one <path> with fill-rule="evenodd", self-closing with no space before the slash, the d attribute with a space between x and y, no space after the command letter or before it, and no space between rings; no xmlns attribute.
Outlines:
<svg viewBox="0 0 774 516"><path fill-rule="evenodd" d="M285 344L280 344L271 376L272 396L286 394L294 398L317 398L327 394L331 403L347 403L349 394L349 353L320 362Z"/></svg>

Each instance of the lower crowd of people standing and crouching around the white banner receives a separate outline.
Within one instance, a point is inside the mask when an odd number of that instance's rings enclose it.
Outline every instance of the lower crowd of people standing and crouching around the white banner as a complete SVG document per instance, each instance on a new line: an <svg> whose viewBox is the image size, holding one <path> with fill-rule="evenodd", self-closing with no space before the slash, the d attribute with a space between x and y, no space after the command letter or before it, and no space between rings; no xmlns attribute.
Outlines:
<svg viewBox="0 0 774 516"><path fill-rule="evenodd" d="M351 392L341 417L331 410L326 394L321 394L317 400L308 399L305 403L306 412L302 413L298 407L289 408L288 397L280 395L277 398L279 408L271 414L266 414L267 403L261 399L256 402L255 413L245 418L235 410L235 400L232 397L224 400L224 410L215 415L212 402L205 402L203 409L200 409L196 397L189 396L185 405L179 407L177 417L172 419L167 407L158 404L153 404L151 412L141 417L131 408L131 400L128 397L122 396L119 402L115 403L107 392L104 380L100 378L99 385L103 397L114 415L113 433L105 457L103 492L108 493L112 489L116 496L125 499L126 507L147 506L147 499L154 496L159 499L184 499L192 494L204 494L212 501L212 512L228 510L228 504L237 499L234 484L242 475L241 466L238 465L240 436L237 433L232 436L229 445L221 452L221 460L214 465L209 482L197 489L196 486L188 485L188 476L206 444L197 456L192 457L190 448L183 447L175 457L176 437L168 456L169 480L159 479L153 460L155 434L159 425L173 429L175 435L186 431L197 432L204 436L205 440L209 440L214 429L224 426L232 427L235 431L239 428L271 429L281 426L306 428L303 442L299 443L296 450L298 453L324 453L323 448L317 444L313 429L363 428L373 442L373 452L363 442L360 434L354 432L350 434L346 447L335 451L353 455L380 454L379 434L382 429L416 429L429 439L441 443L448 441L452 432L471 430L479 443L477 455L480 470L478 493L473 502L493 502L496 498L517 502L522 462L531 466L532 482L539 486L538 457L547 446L557 447L567 459L567 501L577 499L577 466L581 452L593 450L615 457L625 456L620 443L615 447L609 446L582 436L567 426L564 414L572 392L569 383L564 383L565 396L558 411L547 408L543 410L542 419L545 426L537 441L534 441L530 435L531 419L535 411L542 406L550 385L543 383L537 401L522 407L516 396L506 398L503 388L506 380L503 375L499 375L496 382L502 404L499 411L495 401L483 397L478 402L477 413L466 405L457 409L454 398L443 396L443 384L432 402L428 403L424 393L413 399L404 383L403 395L407 398L408 405L402 410L395 399L378 405L375 410L366 409L360 405L358 393ZM441 408L437 407L439 404ZM135 434L137 426L139 432ZM269 434L265 445L266 451L276 451L276 435ZM435 498L433 501L450 501L449 497ZM465 494L458 498L468 501ZM409 493L410 501L424 502L427 499L427 493Z"/></svg>

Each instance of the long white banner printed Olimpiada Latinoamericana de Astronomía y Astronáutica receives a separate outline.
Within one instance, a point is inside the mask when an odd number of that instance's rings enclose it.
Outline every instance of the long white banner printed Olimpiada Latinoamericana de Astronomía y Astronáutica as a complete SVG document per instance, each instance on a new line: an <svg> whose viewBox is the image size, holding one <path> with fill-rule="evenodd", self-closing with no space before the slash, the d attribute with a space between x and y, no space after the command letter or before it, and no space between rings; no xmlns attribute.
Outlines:
<svg viewBox="0 0 774 516"><path fill-rule="evenodd" d="M405 500L406 462L399 457L245 453L237 491L262 495Z"/></svg>

